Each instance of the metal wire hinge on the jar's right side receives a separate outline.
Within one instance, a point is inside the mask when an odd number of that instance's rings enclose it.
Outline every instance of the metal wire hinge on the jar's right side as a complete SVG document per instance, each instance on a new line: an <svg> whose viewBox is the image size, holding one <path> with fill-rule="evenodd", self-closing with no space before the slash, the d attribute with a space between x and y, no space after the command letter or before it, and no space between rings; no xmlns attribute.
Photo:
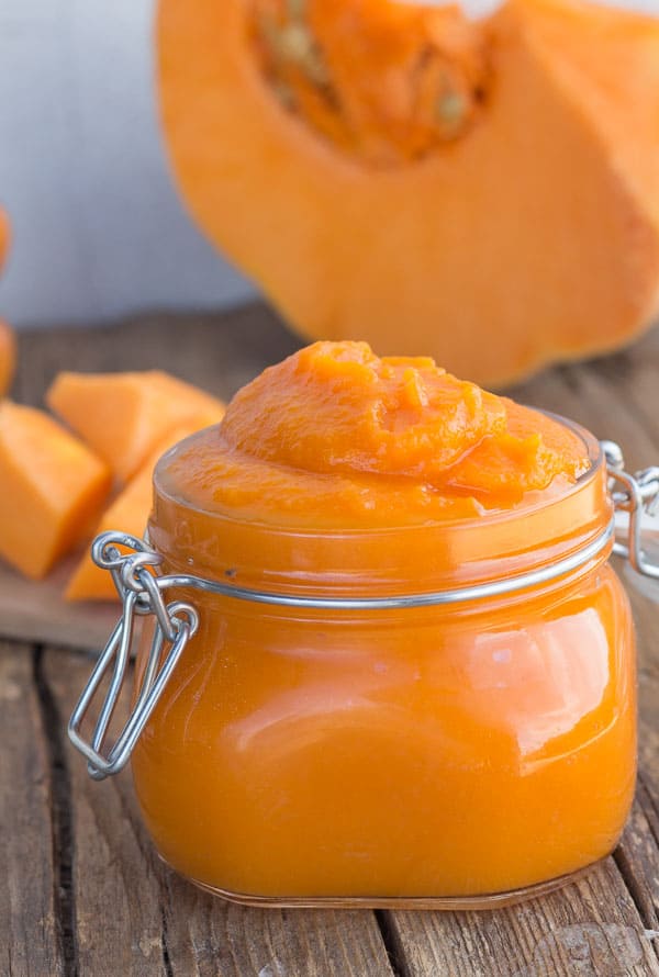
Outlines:
<svg viewBox="0 0 659 977"><path fill-rule="evenodd" d="M616 539L613 550L629 561L636 573L659 580L659 562L648 557L650 527L659 529L659 467L630 475L615 441L602 441L608 469L608 487L615 506ZM646 549L644 549L644 542Z"/></svg>

